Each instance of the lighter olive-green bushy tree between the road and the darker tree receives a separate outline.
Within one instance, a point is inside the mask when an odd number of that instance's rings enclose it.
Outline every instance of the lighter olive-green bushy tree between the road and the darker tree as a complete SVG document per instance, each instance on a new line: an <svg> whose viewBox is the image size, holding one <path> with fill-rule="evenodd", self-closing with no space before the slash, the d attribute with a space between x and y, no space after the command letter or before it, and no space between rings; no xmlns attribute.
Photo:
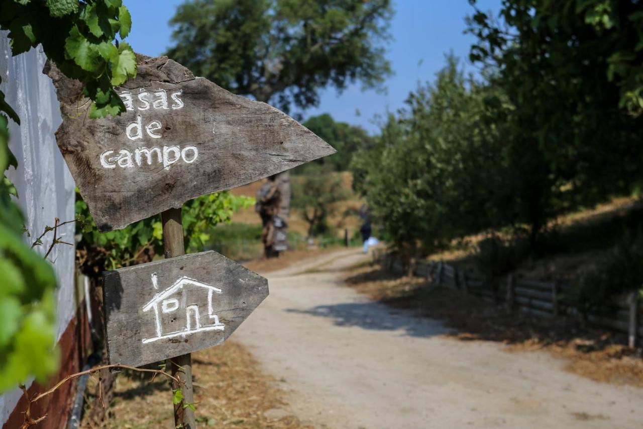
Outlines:
<svg viewBox="0 0 643 429"><path fill-rule="evenodd" d="M488 91L449 56L353 158L374 223L407 262L500 222L493 201L503 169L498 133L485 123Z"/></svg>

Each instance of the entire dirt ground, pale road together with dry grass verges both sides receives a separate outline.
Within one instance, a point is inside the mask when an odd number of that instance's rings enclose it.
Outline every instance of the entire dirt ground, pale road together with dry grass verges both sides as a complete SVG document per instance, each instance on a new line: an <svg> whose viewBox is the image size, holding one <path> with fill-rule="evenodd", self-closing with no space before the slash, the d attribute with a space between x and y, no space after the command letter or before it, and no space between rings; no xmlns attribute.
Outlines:
<svg viewBox="0 0 643 429"><path fill-rule="evenodd" d="M369 261L334 249L256 263L270 296L194 354L199 427L640 427L640 359L611 338L503 320ZM170 396L121 376L108 427L172 427Z"/></svg>

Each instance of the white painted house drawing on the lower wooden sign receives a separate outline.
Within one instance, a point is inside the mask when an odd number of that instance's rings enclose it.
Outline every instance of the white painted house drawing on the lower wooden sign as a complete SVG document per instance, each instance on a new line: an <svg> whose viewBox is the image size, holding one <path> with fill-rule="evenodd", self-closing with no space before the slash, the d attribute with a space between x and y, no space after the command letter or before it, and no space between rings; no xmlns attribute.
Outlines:
<svg viewBox="0 0 643 429"><path fill-rule="evenodd" d="M156 273L152 274L152 285L158 289ZM212 311L213 294L221 294L218 287L188 277L181 277L165 291L155 294L143 312L154 310L156 337L144 338L143 343L151 343L163 338L172 338L203 332L224 330L225 325ZM199 309L194 302L204 302L207 309ZM190 304L188 304L190 303Z"/></svg>

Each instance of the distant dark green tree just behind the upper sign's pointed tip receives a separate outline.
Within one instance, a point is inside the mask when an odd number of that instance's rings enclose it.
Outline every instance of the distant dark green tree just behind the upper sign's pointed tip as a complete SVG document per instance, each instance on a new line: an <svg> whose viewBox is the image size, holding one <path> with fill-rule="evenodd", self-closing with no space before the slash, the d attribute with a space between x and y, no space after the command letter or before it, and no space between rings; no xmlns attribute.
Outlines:
<svg viewBox="0 0 643 429"><path fill-rule="evenodd" d="M349 125L346 122L336 122L328 113L310 117L303 122L303 126L330 144L337 153L296 167L293 171L294 174L305 173L312 164L329 166L332 171L347 171L352 155L359 148L372 144L373 140L365 129Z"/></svg>

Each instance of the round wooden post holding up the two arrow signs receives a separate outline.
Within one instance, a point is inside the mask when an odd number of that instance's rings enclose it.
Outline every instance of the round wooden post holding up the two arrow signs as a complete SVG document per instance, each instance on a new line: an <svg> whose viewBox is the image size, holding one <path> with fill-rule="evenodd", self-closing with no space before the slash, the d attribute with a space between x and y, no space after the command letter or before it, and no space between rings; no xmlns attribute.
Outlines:
<svg viewBox="0 0 643 429"><path fill-rule="evenodd" d="M169 209L161 213L163 223L163 248L165 258L176 258L185 254L183 245L183 222L181 209ZM174 424L183 429L196 429L197 424L194 411L184 404L194 403L194 390L192 390L192 356L183 354L168 359L172 375L181 380L181 385L172 382L172 390L178 388L183 392L183 401L174 405Z"/></svg>

